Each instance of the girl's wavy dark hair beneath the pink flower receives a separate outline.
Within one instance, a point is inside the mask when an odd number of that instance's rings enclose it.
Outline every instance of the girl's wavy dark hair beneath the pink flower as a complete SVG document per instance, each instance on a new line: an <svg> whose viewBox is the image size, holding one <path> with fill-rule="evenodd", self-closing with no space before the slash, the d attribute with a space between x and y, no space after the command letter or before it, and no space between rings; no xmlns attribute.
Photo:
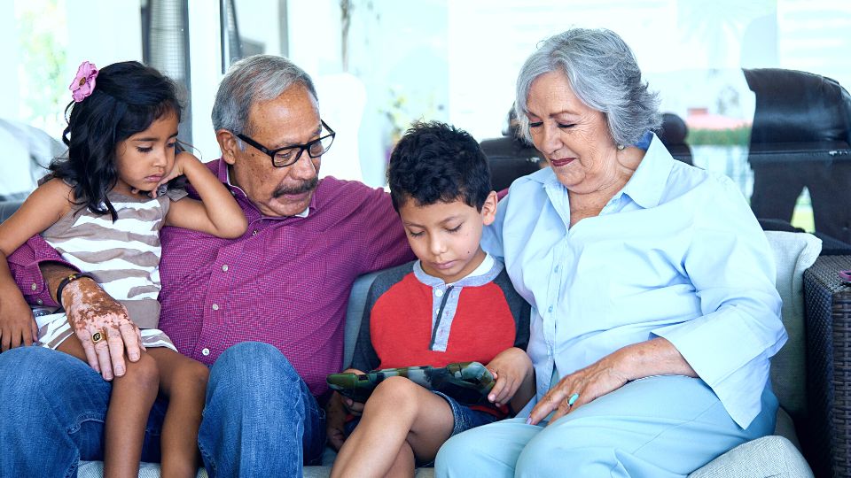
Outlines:
<svg viewBox="0 0 851 478"><path fill-rule="evenodd" d="M114 221L118 216L106 193L118 181L118 144L163 115L174 113L179 122L181 111L176 84L162 73L137 61L106 66L91 95L66 107L62 142L68 152L51 162L51 175L74 185L77 204L97 214L109 212Z"/></svg>

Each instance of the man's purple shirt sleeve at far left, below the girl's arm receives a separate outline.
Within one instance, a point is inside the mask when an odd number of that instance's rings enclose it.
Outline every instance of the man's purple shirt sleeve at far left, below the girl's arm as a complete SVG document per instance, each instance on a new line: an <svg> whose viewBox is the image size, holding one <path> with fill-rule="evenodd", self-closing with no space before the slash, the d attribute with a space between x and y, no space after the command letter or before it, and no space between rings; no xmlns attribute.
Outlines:
<svg viewBox="0 0 851 478"><path fill-rule="evenodd" d="M12 252L8 258L12 277L18 284L18 289L30 305L59 306L52 298L47 282L44 281L39 266L43 262L57 262L71 269L76 267L66 262L59 252L44 241L41 235L34 235L26 243Z"/></svg>

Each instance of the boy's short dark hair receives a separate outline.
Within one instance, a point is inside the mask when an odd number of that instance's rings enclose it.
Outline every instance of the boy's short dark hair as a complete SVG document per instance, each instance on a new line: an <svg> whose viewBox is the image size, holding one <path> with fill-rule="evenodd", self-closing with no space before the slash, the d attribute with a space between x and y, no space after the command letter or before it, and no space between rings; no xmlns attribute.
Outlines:
<svg viewBox="0 0 851 478"><path fill-rule="evenodd" d="M490 194L488 157L466 131L438 121L415 123L387 166L396 212L409 199L418 206L462 200L481 211Z"/></svg>

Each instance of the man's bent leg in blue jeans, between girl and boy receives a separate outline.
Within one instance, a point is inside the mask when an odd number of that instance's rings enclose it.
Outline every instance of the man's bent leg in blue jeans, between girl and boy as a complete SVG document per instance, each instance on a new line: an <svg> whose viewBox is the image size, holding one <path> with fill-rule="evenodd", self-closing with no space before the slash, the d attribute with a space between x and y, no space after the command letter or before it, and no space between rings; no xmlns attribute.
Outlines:
<svg viewBox="0 0 851 478"><path fill-rule="evenodd" d="M238 343L210 368L198 434L212 477L301 476L322 458L325 413L293 366L268 343Z"/></svg>

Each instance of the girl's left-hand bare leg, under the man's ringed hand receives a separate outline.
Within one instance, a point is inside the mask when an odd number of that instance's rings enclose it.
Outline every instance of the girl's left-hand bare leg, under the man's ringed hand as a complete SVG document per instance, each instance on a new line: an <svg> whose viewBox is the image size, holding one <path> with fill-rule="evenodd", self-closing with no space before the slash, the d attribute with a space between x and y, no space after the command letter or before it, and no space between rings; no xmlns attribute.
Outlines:
<svg viewBox="0 0 851 478"><path fill-rule="evenodd" d="M75 336L59 344L58 351L86 360ZM160 389L157 364L147 353L127 363L127 373L113 378L104 432L104 475L137 476L142 456L145 424Z"/></svg>

